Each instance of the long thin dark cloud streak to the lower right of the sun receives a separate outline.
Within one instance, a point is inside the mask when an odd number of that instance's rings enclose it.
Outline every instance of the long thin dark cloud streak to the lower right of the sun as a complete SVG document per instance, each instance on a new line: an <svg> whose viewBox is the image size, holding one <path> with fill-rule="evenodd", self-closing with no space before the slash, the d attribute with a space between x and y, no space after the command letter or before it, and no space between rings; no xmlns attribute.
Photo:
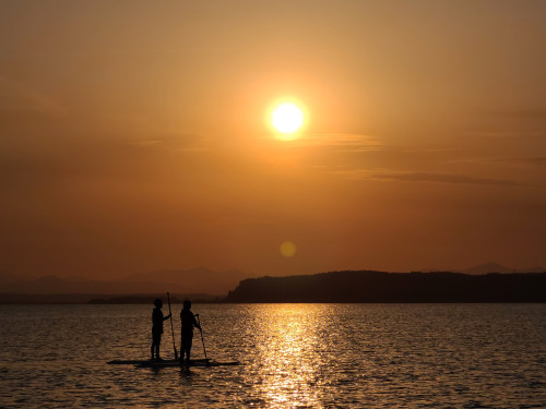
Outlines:
<svg viewBox="0 0 546 409"><path fill-rule="evenodd" d="M334 173L351 179L380 179L380 180L396 180L404 182L483 184L483 185L503 185L503 187L530 185L529 183L521 183L514 180L506 180L506 179L478 178L473 176L454 175L454 173L395 171L388 169L337 170L334 171Z"/></svg>

